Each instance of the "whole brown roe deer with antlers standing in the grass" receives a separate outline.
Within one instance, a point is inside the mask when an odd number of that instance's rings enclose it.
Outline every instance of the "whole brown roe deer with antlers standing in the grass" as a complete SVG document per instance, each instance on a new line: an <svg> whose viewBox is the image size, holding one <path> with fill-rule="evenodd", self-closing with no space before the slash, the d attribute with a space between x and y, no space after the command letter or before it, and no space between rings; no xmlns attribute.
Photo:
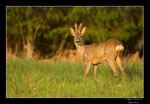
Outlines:
<svg viewBox="0 0 150 104"><path fill-rule="evenodd" d="M90 45L83 44L83 34L86 31L84 27L81 31L82 23L80 23L79 28L75 23L75 31L73 28L70 28L70 32L74 37L74 44L77 48L77 51L83 57L84 62L86 63L86 70L84 74L84 79L86 78L91 64L94 66L94 78L96 78L97 64L100 64L104 61L107 61L110 67L114 72L114 76L118 75L118 70L115 66L115 60L118 66L121 69L122 77L125 77L124 67L120 59L120 52L123 52L124 46L117 39L108 39L105 42L93 43Z"/></svg>

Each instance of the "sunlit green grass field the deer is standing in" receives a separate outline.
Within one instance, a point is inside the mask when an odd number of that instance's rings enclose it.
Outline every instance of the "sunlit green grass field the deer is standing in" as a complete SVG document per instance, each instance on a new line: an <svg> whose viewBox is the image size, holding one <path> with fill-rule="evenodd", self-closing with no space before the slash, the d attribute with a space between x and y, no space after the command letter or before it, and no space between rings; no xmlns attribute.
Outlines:
<svg viewBox="0 0 150 104"><path fill-rule="evenodd" d="M83 80L84 63L40 63L28 59L7 60L6 97L143 97L143 63L123 63L126 80L114 78L107 63L93 67Z"/></svg>

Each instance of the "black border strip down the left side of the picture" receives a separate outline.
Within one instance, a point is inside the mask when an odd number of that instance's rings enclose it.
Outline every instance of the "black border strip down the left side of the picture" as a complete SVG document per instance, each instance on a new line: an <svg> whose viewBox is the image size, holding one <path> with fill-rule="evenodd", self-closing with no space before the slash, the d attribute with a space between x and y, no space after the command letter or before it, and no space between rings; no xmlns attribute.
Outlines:
<svg viewBox="0 0 150 104"><path fill-rule="evenodd" d="M5 13L5 6L0 5L0 12L1 12L1 22L0 22L0 27L1 27L1 31L0 31L0 83L1 83L1 88L0 88L0 92L1 92L1 97L0 97L0 101L5 99L6 96L6 13Z"/></svg>

